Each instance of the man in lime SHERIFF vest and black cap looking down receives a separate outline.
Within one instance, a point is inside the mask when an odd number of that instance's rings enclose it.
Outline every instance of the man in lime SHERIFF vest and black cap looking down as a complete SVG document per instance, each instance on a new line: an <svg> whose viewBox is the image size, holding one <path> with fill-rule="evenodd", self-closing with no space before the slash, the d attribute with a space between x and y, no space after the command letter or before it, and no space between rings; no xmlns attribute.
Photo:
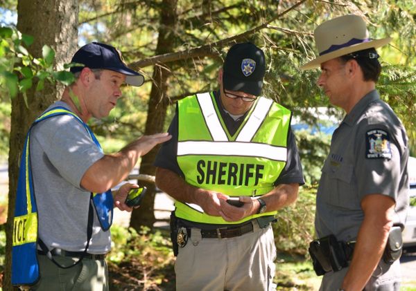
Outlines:
<svg viewBox="0 0 416 291"><path fill-rule="evenodd" d="M175 198L177 290L272 288L270 223L304 179L291 111L260 97L264 74L263 51L235 44L219 90L177 102L172 140L155 160L157 187Z"/></svg>

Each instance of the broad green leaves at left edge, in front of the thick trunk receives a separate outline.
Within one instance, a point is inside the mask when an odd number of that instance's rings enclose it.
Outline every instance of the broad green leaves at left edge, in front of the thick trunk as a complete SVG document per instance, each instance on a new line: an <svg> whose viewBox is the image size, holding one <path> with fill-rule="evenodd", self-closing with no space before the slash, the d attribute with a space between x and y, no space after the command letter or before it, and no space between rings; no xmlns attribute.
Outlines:
<svg viewBox="0 0 416 291"><path fill-rule="evenodd" d="M44 82L64 85L73 82L73 75L68 71L53 69L55 52L52 48L43 46L42 57L36 58L27 50L32 43L32 36L22 34L15 27L0 27L0 157L8 154L12 98L21 93L27 107L26 92L33 84L36 84L36 91L42 91Z"/></svg>

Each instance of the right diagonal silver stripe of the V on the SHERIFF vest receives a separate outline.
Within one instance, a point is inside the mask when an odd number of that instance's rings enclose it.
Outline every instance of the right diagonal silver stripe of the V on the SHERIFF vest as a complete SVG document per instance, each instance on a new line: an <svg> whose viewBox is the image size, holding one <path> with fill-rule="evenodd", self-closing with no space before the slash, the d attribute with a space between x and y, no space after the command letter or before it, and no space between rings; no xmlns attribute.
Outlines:
<svg viewBox="0 0 416 291"><path fill-rule="evenodd" d="M272 100L266 98L260 98L259 102L256 104L256 108L252 112L250 119L245 124L244 128L241 129L239 136L236 138L237 142L250 142L252 140L254 134L257 133L261 122L263 122L264 118L272 106Z"/></svg>

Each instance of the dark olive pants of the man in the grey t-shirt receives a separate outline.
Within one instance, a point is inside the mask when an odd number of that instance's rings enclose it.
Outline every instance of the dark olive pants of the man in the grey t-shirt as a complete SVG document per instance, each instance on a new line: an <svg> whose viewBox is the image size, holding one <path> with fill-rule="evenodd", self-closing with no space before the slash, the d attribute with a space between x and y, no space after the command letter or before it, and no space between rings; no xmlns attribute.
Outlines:
<svg viewBox="0 0 416 291"><path fill-rule="evenodd" d="M83 259L81 263L68 269L55 265L44 255L38 255L40 281L31 290L45 291L107 291L108 272L105 260ZM67 256L54 256L61 265L71 265L78 259Z"/></svg>

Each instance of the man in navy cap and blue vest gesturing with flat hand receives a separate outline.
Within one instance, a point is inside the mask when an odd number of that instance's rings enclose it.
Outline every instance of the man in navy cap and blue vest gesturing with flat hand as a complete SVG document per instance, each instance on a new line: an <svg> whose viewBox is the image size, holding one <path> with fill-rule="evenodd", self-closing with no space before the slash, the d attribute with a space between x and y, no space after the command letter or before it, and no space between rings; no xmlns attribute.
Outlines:
<svg viewBox="0 0 416 291"><path fill-rule="evenodd" d="M141 86L116 48L93 42L72 58L76 81L38 117L21 158L12 250L12 283L31 290L108 290L112 209L138 185L123 181L140 156L167 133L142 136L118 153L103 153L87 121L105 118L121 84ZM29 139L30 138L30 139Z"/></svg>

